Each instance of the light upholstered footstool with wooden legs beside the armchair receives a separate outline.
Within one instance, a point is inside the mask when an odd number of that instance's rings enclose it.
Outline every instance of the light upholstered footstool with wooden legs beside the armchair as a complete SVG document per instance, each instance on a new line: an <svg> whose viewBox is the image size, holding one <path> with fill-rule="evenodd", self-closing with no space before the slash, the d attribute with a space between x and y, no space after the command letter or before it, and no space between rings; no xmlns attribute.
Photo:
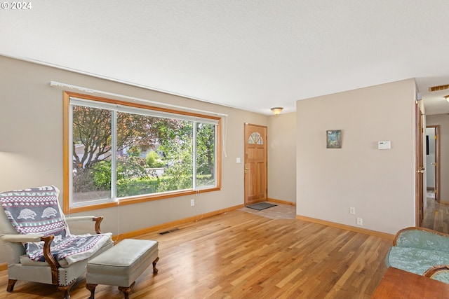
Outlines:
<svg viewBox="0 0 449 299"><path fill-rule="evenodd" d="M159 260L158 242L142 239L123 239L112 248L95 256L87 263L86 288L94 299L98 284L119 286L119 290L129 298L131 286L142 272L153 263L153 273L157 273Z"/></svg>

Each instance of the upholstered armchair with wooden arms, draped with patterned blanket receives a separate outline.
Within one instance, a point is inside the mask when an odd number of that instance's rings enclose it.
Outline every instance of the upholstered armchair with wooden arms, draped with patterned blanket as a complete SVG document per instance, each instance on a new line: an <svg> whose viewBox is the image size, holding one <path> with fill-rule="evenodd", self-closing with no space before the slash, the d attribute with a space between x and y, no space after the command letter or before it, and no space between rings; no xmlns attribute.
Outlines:
<svg viewBox="0 0 449 299"><path fill-rule="evenodd" d="M113 246L111 234L100 232L102 217L66 218L58 196L54 186L0 193L4 208L0 249L8 259L6 291L25 280L57 285L64 298L70 298L70 288L86 273L88 260ZM69 224L77 221L93 221L97 235L71 235Z"/></svg>

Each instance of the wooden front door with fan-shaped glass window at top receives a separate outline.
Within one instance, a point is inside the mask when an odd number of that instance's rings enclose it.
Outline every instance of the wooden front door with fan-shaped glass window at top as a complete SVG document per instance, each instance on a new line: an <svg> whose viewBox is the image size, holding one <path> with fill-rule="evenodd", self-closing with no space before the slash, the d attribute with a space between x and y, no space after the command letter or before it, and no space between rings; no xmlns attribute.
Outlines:
<svg viewBox="0 0 449 299"><path fill-rule="evenodd" d="M267 127L245 124L245 205L267 200Z"/></svg>

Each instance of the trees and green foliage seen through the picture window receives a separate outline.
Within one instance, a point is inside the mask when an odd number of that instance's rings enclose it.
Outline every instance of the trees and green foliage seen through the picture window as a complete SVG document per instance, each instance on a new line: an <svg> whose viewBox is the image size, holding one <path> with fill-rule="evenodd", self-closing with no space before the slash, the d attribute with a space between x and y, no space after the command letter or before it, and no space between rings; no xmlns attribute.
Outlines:
<svg viewBox="0 0 449 299"><path fill-rule="evenodd" d="M110 197L112 184L118 198L215 184L215 125L137 113L115 115L116 128L114 112L73 106L73 202ZM156 146L161 155L152 150Z"/></svg>

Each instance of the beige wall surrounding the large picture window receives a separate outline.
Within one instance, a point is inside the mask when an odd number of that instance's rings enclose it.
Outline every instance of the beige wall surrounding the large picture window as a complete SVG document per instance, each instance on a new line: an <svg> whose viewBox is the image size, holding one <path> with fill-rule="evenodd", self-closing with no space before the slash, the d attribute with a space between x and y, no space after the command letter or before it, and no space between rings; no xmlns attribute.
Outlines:
<svg viewBox="0 0 449 299"><path fill-rule="evenodd" d="M51 81L229 115L222 190L87 211L105 216L102 230L131 232L243 204L243 123L267 125L268 116L177 97L0 56L0 190L53 184L62 194L62 88ZM78 90L72 90L78 92ZM224 153L224 154L225 154ZM61 194L61 199L62 199ZM197 197L196 207L190 199ZM74 215L75 216L75 215Z"/></svg>

